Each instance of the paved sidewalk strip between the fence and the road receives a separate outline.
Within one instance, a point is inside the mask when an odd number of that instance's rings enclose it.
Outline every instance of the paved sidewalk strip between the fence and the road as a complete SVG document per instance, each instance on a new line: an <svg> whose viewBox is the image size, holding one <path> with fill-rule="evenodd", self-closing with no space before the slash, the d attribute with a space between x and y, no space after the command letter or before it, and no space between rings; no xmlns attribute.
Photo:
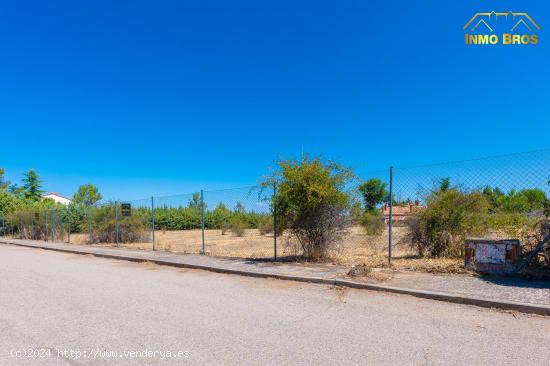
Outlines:
<svg viewBox="0 0 550 366"><path fill-rule="evenodd" d="M514 278L479 278L457 274L428 274L412 271L376 270L364 277L349 277L348 267L331 264L273 263L229 259L204 255L175 254L96 247L33 240L0 239L0 243L93 254L102 257L151 261L158 264L206 269L255 277L318 282L338 286L405 293L435 300L467 303L485 307L515 309L550 315L550 282Z"/></svg>

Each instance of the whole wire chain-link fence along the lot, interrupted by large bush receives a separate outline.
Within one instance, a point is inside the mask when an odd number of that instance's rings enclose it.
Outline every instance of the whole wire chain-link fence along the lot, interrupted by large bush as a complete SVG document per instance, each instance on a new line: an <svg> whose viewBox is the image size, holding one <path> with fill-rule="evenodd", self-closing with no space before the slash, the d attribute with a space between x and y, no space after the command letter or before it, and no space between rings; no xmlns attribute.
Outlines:
<svg viewBox="0 0 550 366"><path fill-rule="evenodd" d="M519 238L547 230L550 150L356 173L345 230L330 257L345 264L418 255L460 257L464 238ZM242 258L300 256L277 224L273 187L197 191L0 219L3 236ZM275 232L277 235L275 235ZM390 258L391 258L390 257Z"/></svg>

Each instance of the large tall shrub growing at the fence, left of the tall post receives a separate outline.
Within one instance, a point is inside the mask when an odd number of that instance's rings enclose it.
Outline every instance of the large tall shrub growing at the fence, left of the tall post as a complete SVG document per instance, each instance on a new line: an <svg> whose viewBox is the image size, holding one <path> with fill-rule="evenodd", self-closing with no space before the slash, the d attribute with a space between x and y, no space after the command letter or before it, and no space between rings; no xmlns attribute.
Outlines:
<svg viewBox="0 0 550 366"><path fill-rule="evenodd" d="M263 186L276 187L273 205L279 227L289 230L306 257L326 257L348 224L349 196L345 188L352 178L351 171L307 156L298 161L279 161L277 168Z"/></svg>

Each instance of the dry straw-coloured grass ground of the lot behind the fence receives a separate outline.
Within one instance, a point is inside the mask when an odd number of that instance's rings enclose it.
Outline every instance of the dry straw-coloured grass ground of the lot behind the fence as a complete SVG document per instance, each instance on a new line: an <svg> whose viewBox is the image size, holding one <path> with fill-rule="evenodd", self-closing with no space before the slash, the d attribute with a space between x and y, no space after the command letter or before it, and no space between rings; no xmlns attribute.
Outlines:
<svg viewBox="0 0 550 366"><path fill-rule="evenodd" d="M393 228L392 266L396 269L411 269L426 272L465 272L461 259L417 258L411 247L406 227ZM155 249L174 253L200 253L202 250L201 230L155 231ZM71 243L86 244L86 234L71 234ZM301 254L300 246L288 235L278 238L277 256L295 257ZM110 244L94 244L113 246ZM125 243L122 247L151 250L152 236L141 243ZM261 235L256 229L237 236L230 231L205 231L206 254L223 257L273 258L273 234ZM385 267L388 264L388 231L381 235L367 235L361 227L352 227L343 240L330 251L330 262L341 265L366 265Z"/></svg>

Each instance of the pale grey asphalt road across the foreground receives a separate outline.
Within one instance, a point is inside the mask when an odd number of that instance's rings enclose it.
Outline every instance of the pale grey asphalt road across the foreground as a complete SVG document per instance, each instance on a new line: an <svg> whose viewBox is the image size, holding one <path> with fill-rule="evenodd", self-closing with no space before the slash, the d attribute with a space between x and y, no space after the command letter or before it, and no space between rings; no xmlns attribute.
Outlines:
<svg viewBox="0 0 550 366"><path fill-rule="evenodd" d="M550 362L550 317L0 245L0 365Z"/></svg>

